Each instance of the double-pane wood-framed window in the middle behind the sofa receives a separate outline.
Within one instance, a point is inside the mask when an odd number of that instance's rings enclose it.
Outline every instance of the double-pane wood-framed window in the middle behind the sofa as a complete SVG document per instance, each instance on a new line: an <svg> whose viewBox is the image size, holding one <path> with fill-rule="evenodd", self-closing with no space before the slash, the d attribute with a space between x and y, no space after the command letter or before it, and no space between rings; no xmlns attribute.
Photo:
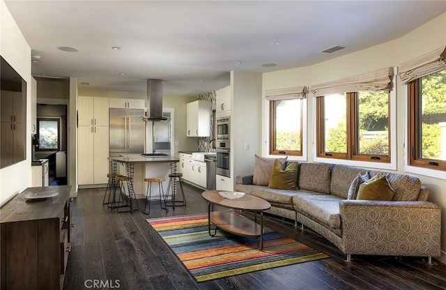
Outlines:
<svg viewBox="0 0 446 290"><path fill-rule="evenodd" d="M334 93L316 106L318 157L390 162L390 93Z"/></svg>

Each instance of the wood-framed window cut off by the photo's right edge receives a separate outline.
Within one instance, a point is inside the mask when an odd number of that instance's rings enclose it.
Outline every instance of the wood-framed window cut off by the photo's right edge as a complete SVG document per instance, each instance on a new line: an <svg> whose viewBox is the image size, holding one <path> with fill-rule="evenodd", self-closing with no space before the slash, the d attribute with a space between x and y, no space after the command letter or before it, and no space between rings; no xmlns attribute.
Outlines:
<svg viewBox="0 0 446 290"><path fill-rule="evenodd" d="M446 171L446 70L408 83L408 163Z"/></svg>

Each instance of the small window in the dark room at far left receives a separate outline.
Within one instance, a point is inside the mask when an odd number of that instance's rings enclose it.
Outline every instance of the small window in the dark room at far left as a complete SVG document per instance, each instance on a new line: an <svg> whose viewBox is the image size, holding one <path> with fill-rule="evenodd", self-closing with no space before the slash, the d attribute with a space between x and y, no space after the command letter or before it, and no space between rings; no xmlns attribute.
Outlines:
<svg viewBox="0 0 446 290"><path fill-rule="evenodd" d="M59 151L61 136L59 123L59 119L37 119L39 146L36 150Z"/></svg>

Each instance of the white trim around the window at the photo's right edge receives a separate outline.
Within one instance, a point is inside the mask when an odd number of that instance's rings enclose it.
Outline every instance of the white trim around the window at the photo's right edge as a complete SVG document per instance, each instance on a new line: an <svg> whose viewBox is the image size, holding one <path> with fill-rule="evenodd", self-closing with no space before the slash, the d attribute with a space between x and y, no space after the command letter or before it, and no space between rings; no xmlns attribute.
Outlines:
<svg viewBox="0 0 446 290"><path fill-rule="evenodd" d="M403 85L404 88L404 153L403 153L403 170L404 172L411 173L411 174L418 174L422 176L429 176L433 178L443 179L446 180L446 172L443 170L436 170L436 169L430 169L430 168L424 168L424 167L417 167L409 165L408 160L408 146L409 144L409 124L408 124L408 106L409 106L409 100L407 98L408 96L408 84Z"/></svg>

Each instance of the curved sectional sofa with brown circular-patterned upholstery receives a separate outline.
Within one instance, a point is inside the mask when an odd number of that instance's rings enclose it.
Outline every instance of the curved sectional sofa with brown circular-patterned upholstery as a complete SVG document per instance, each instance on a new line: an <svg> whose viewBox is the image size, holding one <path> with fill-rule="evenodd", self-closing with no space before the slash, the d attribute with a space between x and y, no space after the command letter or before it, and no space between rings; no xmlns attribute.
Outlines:
<svg viewBox="0 0 446 290"><path fill-rule="evenodd" d="M287 163L287 162L285 162ZM348 199L362 174L385 175L394 190L390 201ZM237 176L236 191L270 202L267 211L324 236L351 261L352 254L440 256L440 206L426 201L429 188L407 174L369 171L325 163L298 163L298 190L253 184L253 175Z"/></svg>

